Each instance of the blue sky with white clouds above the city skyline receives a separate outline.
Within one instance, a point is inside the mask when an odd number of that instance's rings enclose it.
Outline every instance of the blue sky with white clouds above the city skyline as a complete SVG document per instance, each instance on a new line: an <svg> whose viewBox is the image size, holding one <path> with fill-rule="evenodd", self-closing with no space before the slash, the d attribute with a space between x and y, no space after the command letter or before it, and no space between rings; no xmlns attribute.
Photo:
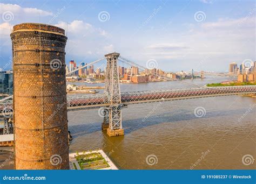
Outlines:
<svg viewBox="0 0 256 184"><path fill-rule="evenodd" d="M67 63L94 61L113 51L142 66L156 60L166 71L225 71L230 62L256 60L255 1L1 3L0 68L11 67L6 64L11 56L10 27L39 22L39 15L41 23L64 29L68 25ZM6 12L10 17L4 17Z"/></svg>

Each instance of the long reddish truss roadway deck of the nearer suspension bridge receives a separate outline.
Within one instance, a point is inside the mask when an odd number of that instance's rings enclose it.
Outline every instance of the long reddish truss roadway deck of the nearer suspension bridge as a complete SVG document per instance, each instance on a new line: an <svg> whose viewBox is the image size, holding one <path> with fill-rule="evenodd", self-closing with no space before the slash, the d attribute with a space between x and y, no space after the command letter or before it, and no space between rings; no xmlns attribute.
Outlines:
<svg viewBox="0 0 256 184"><path fill-rule="evenodd" d="M204 98L214 96L227 95L245 95L255 94L256 86L231 86L231 87L201 87L201 88L187 88L187 89L172 89L172 90L158 90L158 91L134 91L121 93L122 106L138 104L163 102L173 100L186 100L192 98ZM107 95L85 95L85 96L71 96L67 98L68 111L96 109L101 107L109 107L111 104L104 104L104 98ZM12 101L0 103L0 117L11 116ZM6 110L4 112L4 110Z"/></svg>

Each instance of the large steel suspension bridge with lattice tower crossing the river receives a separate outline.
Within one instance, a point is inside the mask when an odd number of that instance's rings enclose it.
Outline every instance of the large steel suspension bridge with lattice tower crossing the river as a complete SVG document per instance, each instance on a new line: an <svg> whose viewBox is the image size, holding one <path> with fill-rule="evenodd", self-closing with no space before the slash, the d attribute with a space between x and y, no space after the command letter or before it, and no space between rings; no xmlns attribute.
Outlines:
<svg viewBox="0 0 256 184"><path fill-rule="evenodd" d="M194 88L156 91L132 91L121 93L118 61L127 63L131 66L139 67L140 69L147 68L123 58L119 53L116 52L106 54L104 58L72 70L66 75L71 75L79 69L91 66L102 60L106 60L104 94L68 96L67 104L65 105L67 105L68 111L102 108L104 114L102 129L107 130L107 135L109 136L124 135L124 130L122 128L122 109L126 108L127 105L256 93L256 86L202 87L183 81L175 82L188 84ZM213 73L211 74L213 75ZM166 79L166 76L157 76ZM2 112L0 113L0 117L12 117L12 96L6 97L0 101L0 112ZM8 122L6 122L6 126L9 126Z"/></svg>

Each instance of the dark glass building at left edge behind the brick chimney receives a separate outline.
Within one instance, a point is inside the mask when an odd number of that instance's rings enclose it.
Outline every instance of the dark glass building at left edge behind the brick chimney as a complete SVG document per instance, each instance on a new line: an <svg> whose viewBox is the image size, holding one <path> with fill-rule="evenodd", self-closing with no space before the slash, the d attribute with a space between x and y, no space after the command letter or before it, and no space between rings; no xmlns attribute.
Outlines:
<svg viewBox="0 0 256 184"><path fill-rule="evenodd" d="M0 94L12 95L14 89L14 75L12 70L0 72Z"/></svg>

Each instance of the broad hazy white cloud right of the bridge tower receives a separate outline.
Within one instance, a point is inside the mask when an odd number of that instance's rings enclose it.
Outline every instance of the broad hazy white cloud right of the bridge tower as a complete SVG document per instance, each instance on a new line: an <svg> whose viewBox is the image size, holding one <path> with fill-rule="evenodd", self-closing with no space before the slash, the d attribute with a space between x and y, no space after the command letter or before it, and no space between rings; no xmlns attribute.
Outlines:
<svg viewBox="0 0 256 184"><path fill-rule="evenodd" d="M144 48L135 45L132 57L140 61L156 59L162 68L179 63L175 66L177 69L198 66L198 69L213 70L227 68L231 61L255 60L254 18L252 13L248 13L248 16L237 19L221 18L215 22L183 24L184 31L174 32L171 36L161 32L158 32L160 37L148 34L145 40L137 41L145 43Z"/></svg>

